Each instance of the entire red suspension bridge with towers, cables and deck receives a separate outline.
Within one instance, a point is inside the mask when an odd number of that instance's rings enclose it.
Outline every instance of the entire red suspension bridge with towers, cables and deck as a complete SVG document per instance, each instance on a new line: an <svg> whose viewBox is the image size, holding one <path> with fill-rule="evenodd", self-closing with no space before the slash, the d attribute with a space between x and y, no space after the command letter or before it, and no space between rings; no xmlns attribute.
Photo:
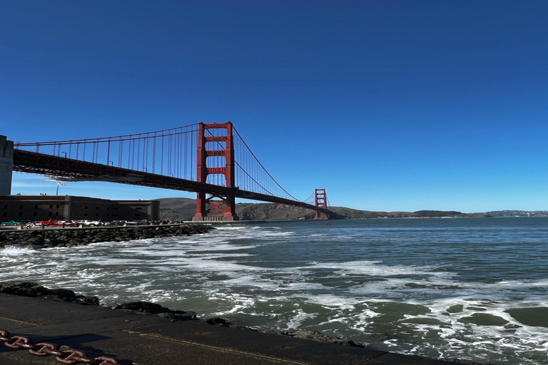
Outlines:
<svg viewBox="0 0 548 365"><path fill-rule="evenodd" d="M238 220L235 198L295 205L330 215L325 189L314 202L290 195L233 123L195 123L148 133L14 143L13 170L58 181L111 181L196 192L195 221Z"/></svg>

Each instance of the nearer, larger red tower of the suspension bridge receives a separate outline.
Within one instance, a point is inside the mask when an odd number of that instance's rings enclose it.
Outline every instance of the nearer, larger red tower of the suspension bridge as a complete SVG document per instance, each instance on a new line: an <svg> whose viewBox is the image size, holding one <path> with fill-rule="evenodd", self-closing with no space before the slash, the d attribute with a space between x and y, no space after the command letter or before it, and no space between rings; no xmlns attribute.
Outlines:
<svg viewBox="0 0 548 365"><path fill-rule="evenodd" d="M225 129L224 135L210 133L209 130ZM222 150L208 149L211 143L224 144ZM208 167L208 157L221 156L225 158L225 166ZM228 123L200 123L198 128L198 183L207 183L208 175L222 174L225 176L226 187L235 187L235 162L233 126ZM230 189L226 194L198 192L196 198L196 215L193 221L238 220L235 211L235 195Z"/></svg>

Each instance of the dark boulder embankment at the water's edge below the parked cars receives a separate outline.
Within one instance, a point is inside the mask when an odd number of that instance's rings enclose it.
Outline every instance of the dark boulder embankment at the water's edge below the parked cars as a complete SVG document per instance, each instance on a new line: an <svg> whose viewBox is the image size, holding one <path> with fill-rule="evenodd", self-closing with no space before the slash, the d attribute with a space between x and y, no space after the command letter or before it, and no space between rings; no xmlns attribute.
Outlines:
<svg viewBox="0 0 548 365"><path fill-rule="evenodd" d="M188 236L207 233L210 225L145 225L137 227L59 228L0 232L0 247L26 245L35 248L71 247L96 242L120 242L145 238Z"/></svg>

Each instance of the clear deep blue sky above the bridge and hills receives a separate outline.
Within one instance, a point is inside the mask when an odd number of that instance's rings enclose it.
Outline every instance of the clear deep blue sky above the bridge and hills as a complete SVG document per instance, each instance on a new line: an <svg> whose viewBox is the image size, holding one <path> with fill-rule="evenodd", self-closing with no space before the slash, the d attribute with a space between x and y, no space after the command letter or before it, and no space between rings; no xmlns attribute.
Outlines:
<svg viewBox="0 0 548 365"><path fill-rule="evenodd" d="M300 199L322 187L363 210L548 210L547 1L8 0L0 39L0 134L14 141L232 120ZM14 174L14 194L55 188Z"/></svg>

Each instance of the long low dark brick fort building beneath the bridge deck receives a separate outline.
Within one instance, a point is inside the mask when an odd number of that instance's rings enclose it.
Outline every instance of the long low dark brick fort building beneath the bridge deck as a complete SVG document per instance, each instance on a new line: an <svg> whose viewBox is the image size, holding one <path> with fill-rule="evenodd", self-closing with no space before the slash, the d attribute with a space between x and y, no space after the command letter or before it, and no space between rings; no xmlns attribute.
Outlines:
<svg viewBox="0 0 548 365"><path fill-rule="evenodd" d="M158 200L106 200L71 195L0 195L6 220L158 220Z"/></svg>

